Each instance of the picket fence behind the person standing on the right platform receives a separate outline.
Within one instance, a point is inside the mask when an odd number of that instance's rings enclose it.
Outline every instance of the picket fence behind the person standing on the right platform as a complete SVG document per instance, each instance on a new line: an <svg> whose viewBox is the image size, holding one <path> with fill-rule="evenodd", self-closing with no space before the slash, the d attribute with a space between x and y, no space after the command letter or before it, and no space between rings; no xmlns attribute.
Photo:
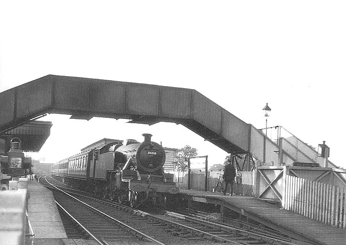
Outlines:
<svg viewBox="0 0 346 245"><path fill-rule="evenodd" d="M174 175L174 182L180 189L187 189L188 187L188 172L187 171L171 171ZM222 171L208 171L208 190L209 192L222 192L223 179ZM252 196L254 173L253 171L238 171L239 177L235 178L233 183L233 191L237 195ZM190 174L191 190L204 191L205 189L205 172L192 171ZM227 189L229 193L229 187Z"/></svg>

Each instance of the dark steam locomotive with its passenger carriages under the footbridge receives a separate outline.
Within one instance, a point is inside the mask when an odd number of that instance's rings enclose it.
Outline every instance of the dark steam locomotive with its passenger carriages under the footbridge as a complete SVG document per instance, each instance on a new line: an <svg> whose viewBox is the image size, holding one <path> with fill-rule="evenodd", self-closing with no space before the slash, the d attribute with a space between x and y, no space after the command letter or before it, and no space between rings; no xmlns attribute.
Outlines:
<svg viewBox="0 0 346 245"><path fill-rule="evenodd" d="M179 192L163 169L165 151L143 134L86 150L53 165L52 175L71 186L130 206L151 202L166 206Z"/></svg>

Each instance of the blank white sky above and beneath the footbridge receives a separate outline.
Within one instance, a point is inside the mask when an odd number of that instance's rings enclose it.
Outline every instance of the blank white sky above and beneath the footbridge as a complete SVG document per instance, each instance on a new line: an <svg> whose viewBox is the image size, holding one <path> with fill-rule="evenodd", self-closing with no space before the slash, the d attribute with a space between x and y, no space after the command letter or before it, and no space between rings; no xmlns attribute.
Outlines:
<svg viewBox="0 0 346 245"><path fill-rule="evenodd" d="M246 123L280 125L344 160L345 1L0 1L0 92L47 74L195 89ZM47 162L102 138L226 152L172 123L68 119L39 152ZM274 133L275 134L275 133ZM57 153L59 152L59 153Z"/></svg>

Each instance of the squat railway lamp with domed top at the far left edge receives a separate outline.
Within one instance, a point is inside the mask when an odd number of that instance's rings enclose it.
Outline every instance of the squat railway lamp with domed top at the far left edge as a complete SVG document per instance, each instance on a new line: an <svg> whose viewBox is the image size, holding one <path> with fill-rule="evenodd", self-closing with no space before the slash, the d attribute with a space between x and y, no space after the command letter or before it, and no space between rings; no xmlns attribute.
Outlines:
<svg viewBox="0 0 346 245"><path fill-rule="evenodd" d="M11 139L8 155L0 155L0 191L8 189L9 180L18 180L26 174L26 170L31 169L31 157L24 156L21 143L19 138Z"/></svg>

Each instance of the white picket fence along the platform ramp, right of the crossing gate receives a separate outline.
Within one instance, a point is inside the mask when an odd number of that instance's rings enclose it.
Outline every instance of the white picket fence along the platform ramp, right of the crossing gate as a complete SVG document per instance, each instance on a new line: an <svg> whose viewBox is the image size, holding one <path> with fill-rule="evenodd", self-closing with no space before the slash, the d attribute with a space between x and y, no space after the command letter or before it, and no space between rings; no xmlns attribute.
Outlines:
<svg viewBox="0 0 346 245"><path fill-rule="evenodd" d="M328 225L346 229L346 190L294 176L286 177L283 207Z"/></svg>

